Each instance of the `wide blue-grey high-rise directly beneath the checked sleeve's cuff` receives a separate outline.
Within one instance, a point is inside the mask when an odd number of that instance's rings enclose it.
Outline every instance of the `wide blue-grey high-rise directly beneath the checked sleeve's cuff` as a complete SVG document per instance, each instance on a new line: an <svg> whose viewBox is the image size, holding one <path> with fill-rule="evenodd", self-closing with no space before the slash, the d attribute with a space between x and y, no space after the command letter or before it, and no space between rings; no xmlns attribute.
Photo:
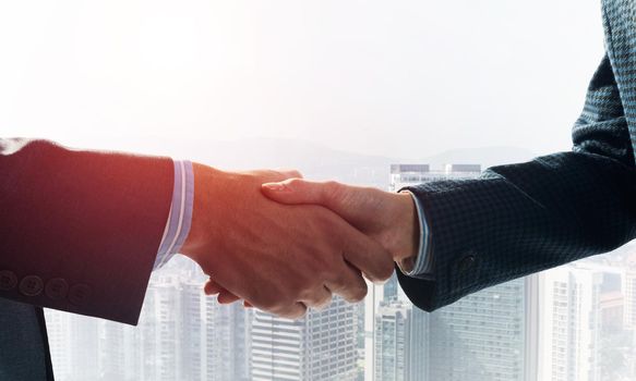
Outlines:
<svg viewBox="0 0 636 381"><path fill-rule="evenodd" d="M499 284L431 314L431 380L526 379L528 282Z"/></svg>

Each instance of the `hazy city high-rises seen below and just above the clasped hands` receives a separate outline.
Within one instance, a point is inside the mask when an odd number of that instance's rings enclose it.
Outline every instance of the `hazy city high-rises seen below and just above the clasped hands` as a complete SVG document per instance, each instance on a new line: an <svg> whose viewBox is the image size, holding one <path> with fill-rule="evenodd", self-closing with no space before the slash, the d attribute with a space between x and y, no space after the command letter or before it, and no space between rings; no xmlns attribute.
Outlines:
<svg viewBox="0 0 636 381"><path fill-rule="evenodd" d="M463 153L455 152L457 157ZM470 155L470 152L464 152ZM519 153L523 155L523 153ZM431 158L432 162L448 156ZM343 168L396 190L479 176L482 164ZM317 168L317 167L316 167ZM321 171L314 168L314 177ZM329 169L329 165L323 169ZM347 176L347 173L349 175ZM347 179L348 177L348 179ZM139 327L47 310L56 376L89 380L622 381L636 377L636 244L424 312L392 278L291 321L220 306L178 256L156 271Z"/></svg>

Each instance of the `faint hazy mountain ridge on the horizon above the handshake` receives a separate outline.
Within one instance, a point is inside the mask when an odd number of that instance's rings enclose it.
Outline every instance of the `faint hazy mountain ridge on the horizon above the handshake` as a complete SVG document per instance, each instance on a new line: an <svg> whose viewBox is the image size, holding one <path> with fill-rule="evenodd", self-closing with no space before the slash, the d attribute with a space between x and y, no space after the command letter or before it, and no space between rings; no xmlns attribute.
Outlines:
<svg viewBox="0 0 636 381"><path fill-rule="evenodd" d="M444 151L421 159L389 158L332 149L303 140L289 139L106 139L100 148L117 148L168 155L208 163L228 170L298 169L307 177L333 179L351 184L386 187L389 165L394 163L427 163L433 168L445 163L475 163L482 168L529 160L533 153L514 147L467 148Z"/></svg>

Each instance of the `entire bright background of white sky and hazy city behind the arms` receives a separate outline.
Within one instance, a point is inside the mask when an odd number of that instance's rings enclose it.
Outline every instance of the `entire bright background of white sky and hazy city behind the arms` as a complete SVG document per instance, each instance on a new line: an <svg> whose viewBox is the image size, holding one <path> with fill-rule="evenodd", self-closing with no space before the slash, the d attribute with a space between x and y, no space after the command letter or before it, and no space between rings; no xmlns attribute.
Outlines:
<svg viewBox="0 0 636 381"><path fill-rule="evenodd" d="M3 136L395 189L568 150L603 36L599 0L33 0L0 2L0 50ZM430 315L388 282L297 322L218 306L175 258L136 328L48 310L53 365L62 381L632 380L635 253Z"/></svg>

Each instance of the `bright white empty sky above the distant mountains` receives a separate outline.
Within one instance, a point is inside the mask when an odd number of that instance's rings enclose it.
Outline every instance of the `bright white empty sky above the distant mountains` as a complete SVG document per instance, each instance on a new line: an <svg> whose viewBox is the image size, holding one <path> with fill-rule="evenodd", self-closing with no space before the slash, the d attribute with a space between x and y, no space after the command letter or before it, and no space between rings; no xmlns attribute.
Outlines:
<svg viewBox="0 0 636 381"><path fill-rule="evenodd" d="M567 150L602 40L599 0L2 1L0 131Z"/></svg>

